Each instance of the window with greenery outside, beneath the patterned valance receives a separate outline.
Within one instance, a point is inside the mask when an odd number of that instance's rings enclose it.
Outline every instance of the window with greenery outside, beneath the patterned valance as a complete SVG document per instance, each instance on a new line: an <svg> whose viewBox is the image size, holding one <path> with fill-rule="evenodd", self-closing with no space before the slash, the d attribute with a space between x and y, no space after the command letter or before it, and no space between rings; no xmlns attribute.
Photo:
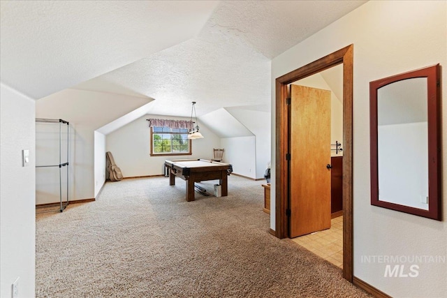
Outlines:
<svg viewBox="0 0 447 298"><path fill-rule="evenodd" d="M151 127L151 156L191 155L187 128Z"/></svg>

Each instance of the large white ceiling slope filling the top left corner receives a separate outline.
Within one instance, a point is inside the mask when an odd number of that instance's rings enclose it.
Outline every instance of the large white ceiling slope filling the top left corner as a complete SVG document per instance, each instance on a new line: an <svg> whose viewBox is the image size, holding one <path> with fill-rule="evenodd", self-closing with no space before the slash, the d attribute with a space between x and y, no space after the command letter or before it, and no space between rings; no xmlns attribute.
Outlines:
<svg viewBox="0 0 447 298"><path fill-rule="evenodd" d="M217 3L2 0L1 81L43 98L193 38Z"/></svg>

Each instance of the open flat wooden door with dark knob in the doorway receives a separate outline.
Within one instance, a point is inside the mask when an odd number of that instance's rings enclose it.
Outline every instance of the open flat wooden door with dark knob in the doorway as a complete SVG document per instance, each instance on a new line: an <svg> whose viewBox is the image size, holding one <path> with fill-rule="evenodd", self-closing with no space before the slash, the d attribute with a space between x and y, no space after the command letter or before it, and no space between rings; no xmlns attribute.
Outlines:
<svg viewBox="0 0 447 298"><path fill-rule="evenodd" d="M290 237L330 228L330 91L291 85Z"/></svg>

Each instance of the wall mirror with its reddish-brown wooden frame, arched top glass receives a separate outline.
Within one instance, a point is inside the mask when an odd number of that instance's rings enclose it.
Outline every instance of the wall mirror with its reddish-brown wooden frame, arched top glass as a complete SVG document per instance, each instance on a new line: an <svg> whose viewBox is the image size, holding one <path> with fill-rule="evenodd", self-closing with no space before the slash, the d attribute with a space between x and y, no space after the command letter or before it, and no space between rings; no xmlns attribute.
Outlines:
<svg viewBox="0 0 447 298"><path fill-rule="evenodd" d="M439 64L369 83L371 204L441 221Z"/></svg>

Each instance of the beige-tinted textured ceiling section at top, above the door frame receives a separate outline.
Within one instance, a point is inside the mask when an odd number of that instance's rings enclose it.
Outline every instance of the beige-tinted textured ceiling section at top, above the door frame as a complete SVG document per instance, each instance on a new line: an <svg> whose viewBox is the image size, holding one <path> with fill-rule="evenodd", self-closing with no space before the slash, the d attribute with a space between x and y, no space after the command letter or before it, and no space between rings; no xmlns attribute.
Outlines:
<svg viewBox="0 0 447 298"><path fill-rule="evenodd" d="M272 59L366 1L221 1L201 32L240 38Z"/></svg>

